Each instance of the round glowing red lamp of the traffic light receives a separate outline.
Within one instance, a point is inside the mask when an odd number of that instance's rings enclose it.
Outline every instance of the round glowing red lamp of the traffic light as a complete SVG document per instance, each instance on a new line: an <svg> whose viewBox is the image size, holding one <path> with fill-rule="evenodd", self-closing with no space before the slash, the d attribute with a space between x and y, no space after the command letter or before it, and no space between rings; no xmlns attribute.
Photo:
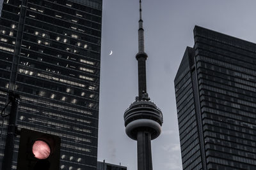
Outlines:
<svg viewBox="0 0 256 170"><path fill-rule="evenodd" d="M51 154L51 148L45 141L35 141L32 147L32 152L36 159L47 159Z"/></svg>

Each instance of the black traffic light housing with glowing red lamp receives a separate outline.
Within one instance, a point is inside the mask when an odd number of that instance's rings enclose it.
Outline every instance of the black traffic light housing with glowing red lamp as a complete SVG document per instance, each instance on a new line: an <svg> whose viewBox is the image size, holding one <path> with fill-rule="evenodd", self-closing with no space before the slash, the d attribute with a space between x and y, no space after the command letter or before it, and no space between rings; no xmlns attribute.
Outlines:
<svg viewBox="0 0 256 170"><path fill-rule="evenodd" d="M60 164L60 137L21 129L17 170L56 170Z"/></svg>

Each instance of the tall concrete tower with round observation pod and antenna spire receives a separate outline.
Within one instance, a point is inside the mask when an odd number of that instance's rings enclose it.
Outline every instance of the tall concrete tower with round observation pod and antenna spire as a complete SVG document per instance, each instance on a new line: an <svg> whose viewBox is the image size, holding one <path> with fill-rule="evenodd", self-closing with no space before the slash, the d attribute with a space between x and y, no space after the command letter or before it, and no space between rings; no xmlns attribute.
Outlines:
<svg viewBox="0 0 256 170"><path fill-rule="evenodd" d="M144 52L144 29L141 17L138 29L138 97L124 113L125 132L129 138L137 141L138 170L152 170L151 140L161 134L163 114L156 104L150 101L147 93L146 60Z"/></svg>

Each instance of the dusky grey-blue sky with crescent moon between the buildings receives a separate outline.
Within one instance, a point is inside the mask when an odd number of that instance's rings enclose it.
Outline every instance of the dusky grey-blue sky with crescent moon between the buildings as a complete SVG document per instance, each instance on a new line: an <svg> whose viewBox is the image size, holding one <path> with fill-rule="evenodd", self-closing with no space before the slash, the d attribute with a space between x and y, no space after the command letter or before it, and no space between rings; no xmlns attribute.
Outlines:
<svg viewBox="0 0 256 170"><path fill-rule="evenodd" d="M147 92L163 112L152 141L155 170L182 169L175 74L195 25L256 43L255 0L142 0ZM124 111L138 96L139 0L103 0L98 160L137 169L137 143L125 134ZM109 53L113 51L112 55Z"/></svg>

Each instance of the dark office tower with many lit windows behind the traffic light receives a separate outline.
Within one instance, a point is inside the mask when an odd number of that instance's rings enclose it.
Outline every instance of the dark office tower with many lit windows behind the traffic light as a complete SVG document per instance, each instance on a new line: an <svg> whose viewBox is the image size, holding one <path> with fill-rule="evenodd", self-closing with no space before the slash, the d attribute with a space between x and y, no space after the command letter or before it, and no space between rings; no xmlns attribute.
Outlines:
<svg viewBox="0 0 256 170"><path fill-rule="evenodd" d="M101 20L102 0L3 2L0 87L20 94L19 128L60 136L60 169L97 169Z"/></svg>

